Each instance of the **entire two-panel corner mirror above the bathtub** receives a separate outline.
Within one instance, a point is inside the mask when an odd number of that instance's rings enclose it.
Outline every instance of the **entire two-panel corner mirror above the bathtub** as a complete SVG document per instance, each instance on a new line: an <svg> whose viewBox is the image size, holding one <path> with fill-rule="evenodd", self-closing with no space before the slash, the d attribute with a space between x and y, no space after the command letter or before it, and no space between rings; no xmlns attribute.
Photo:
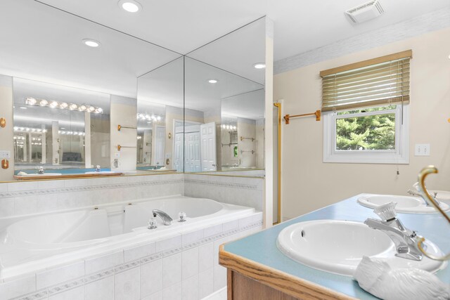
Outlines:
<svg viewBox="0 0 450 300"><path fill-rule="evenodd" d="M38 1L1 9L15 174L264 169L264 18L183 56Z"/></svg>

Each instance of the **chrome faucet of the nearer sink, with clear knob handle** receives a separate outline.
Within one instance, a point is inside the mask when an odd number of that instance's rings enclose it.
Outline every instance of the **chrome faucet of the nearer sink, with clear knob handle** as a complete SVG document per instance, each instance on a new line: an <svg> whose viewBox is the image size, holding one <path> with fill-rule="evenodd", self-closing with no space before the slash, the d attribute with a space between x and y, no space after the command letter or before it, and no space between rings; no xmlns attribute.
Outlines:
<svg viewBox="0 0 450 300"><path fill-rule="evenodd" d="M364 221L364 224L386 233L395 244L395 249L397 250L396 256L421 261L422 252L417 247L420 235L417 235L416 231L404 227L403 223L397 219L397 213L395 212L396 205L396 202L390 202L374 209L373 212L381 220L368 218ZM425 248L425 245L422 245L422 247Z"/></svg>

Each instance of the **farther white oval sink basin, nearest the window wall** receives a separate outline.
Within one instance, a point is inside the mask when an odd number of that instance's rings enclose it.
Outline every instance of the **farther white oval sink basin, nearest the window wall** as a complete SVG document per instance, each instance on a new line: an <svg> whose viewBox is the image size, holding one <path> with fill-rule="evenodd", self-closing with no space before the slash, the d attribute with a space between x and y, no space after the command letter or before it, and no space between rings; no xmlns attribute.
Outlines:
<svg viewBox="0 0 450 300"><path fill-rule="evenodd" d="M419 197L397 195L364 195L358 198L358 203L364 207L375 209L380 205L397 202L395 211L409 214L433 214L437 210L432 205L425 205L425 201ZM444 211L449 210L449 205L441 202Z"/></svg>

